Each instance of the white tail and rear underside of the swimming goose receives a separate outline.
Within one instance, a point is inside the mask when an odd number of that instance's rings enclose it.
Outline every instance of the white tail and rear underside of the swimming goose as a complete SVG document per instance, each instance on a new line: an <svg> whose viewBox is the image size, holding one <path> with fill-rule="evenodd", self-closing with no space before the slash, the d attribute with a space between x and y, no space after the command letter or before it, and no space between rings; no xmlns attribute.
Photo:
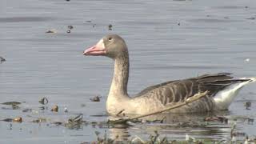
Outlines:
<svg viewBox="0 0 256 144"><path fill-rule="evenodd" d="M250 82L256 82L256 78L240 78L240 79L250 79L246 82L234 83L226 89L219 91L214 96L214 101L217 106L217 110L227 110L231 102L234 100L235 96L238 95L239 90L243 86L247 85Z"/></svg>

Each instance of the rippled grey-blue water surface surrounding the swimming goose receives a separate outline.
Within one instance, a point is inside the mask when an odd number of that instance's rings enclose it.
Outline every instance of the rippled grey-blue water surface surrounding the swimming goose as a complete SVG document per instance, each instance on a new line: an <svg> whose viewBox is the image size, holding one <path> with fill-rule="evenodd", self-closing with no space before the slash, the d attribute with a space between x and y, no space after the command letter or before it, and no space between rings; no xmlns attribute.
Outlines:
<svg viewBox="0 0 256 144"><path fill-rule="evenodd" d="M122 35L129 46L131 95L146 86L198 74L232 72L238 77L255 76L254 0L1 0L0 14L0 56L6 58L0 64L0 102L23 102L18 110L0 106L0 119L21 116L24 120L0 122L1 143L91 142L96 139L94 131L105 130L111 137L118 134L122 138L148 138L158 130L168 138L184 139L190 134L228 139L233 122L238 122L238 131L255 134L254 123L244 118L256 118L256 84L246 86L225 112L231 119L227 124L176 126L181 121L202 122L207 114L167 114L165 124L123 128L83 125L69 129L51 123L80 113L89 122L108 118L105 102L113 62L84 57L82 51L109 33ZM108 30L109 24L113 25L112 31ZM69 25L74 29L67 34ZM46 34L50 29L58 33ZM90 102L98 94L102 101ZM38 100L42 97L49 99L49 110L39 110ZM248 101L252 103L250 110L243 106ZM60 112L50 112L54 105ZM26 108L34 111L22 112ZM41 117L50 122L30 122Z"/></svg>

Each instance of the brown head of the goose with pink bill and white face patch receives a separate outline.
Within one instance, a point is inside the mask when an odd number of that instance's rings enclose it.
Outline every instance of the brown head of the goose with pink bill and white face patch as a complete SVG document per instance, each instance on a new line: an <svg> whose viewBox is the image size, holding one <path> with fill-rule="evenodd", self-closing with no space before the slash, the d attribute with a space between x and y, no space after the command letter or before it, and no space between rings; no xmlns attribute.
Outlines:
<svg viewBox="0 0 256 144"><path fill-rule="evenodd" d="M126 42L117 34L109 34L100 39L96 45L84 50L84 55L106 56L109 58L124 57L128 54Z"/></svg>

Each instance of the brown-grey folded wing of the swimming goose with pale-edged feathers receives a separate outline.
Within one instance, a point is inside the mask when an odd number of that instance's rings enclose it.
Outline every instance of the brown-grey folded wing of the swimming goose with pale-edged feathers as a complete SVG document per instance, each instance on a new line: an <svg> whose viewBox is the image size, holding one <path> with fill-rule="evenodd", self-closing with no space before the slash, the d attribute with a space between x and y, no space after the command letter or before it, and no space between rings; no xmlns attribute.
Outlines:
<svg viewBox="0 0 256 144"><path fill-rule="evenodd" d="M223 90L233 83L244 82L250 79L233 79L230 73L205 74L196 78L188 78L177 81L163 82L161 84L147 87L136 97L149 97L160 101L163 105L170 102L183 102L198 92L209 91L208 95Z"/></svg>

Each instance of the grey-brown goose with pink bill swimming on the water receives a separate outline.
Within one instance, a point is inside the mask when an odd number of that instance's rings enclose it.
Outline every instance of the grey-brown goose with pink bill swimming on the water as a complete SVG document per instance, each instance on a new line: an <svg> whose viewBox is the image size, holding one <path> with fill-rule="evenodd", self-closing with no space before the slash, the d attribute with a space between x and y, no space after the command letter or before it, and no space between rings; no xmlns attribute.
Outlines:
<svg viewBox="0 0 256 144"><path fill-rule="evenodd" d="M106 56L114 60L114 76L106 100L108 114L148 114L184 102L199 92L207 96L170 113L203 113L228 110L238 91L256 78L233 78L231 73L204 74L195 78L163 82L149 86L130 97L127 93L129 78L129 53L126 42L117 34L108 34L94 46L83 51L84 55Z"/></svg>

